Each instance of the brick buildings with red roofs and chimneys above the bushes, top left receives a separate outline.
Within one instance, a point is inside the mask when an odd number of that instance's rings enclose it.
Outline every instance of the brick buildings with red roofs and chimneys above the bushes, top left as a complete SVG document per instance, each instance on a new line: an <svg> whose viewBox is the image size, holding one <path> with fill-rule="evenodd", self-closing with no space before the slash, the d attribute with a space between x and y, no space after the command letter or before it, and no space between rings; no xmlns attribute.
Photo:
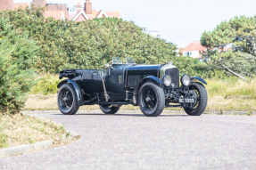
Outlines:
<svg viewBox="0 0 256 170"><path fill-rule="evenodd" d="M67 4L46 4L45 0L33 0L33 4L41 7L45 6L45 17L54 17L56 20L83 21L114 17L120 19L120 12L104 12L103 10L93 9L90 0L86 0L84 7L77 3L72 8L68 8ZM13 4L13 0L0 0L0 10L3 11L24 8L29 5Z"/></svg>

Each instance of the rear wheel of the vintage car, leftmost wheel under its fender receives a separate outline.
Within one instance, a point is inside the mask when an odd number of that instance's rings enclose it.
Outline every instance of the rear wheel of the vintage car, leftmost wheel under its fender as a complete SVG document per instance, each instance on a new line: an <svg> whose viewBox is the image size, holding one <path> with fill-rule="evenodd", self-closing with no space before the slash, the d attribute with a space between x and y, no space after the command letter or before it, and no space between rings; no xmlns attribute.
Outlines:
<svg viewBox="0 0 256 170"><path fill-rule="evenodd" d="M70 84L61 86L57 102L60 111L64 115L74 115L79 109L77 93Z"/></svg>

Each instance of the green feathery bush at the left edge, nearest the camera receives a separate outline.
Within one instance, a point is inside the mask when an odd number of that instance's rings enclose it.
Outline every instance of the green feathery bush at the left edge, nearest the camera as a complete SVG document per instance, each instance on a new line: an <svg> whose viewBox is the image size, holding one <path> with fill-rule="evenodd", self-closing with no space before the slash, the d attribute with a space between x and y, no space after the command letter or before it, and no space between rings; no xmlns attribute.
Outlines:
<svg viewBox="0 0 256 170"><path fill-rule="evenodd" d="M16 113L26 101L26 93L36 82L34 69L37 45L27 33L0 18L0 113Z"/></svg>

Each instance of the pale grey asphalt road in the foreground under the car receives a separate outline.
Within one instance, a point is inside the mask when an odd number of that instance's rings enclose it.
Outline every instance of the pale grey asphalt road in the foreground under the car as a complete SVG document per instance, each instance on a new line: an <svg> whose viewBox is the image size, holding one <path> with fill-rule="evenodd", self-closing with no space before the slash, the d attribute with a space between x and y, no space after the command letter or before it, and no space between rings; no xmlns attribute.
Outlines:
<svg viewBox="0 0 256 170"><path fill-rule="evenodd" d="M1 158L0 169L256 169L256 116L37 115L52 117L81 140Z"/></svg>

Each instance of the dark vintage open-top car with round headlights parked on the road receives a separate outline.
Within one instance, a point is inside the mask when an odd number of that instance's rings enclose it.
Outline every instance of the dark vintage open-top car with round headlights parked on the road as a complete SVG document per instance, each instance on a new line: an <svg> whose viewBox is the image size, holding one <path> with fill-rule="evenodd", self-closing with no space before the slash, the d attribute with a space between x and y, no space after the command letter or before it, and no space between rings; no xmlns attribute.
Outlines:
<svg viewBox="0 0 256 170"><path fill-rule="evenodd" d="M62 77L68 77L58 85L58 107L64 115L94 104L99 104L105 114L114 114L122 105L132 104L148 117L159 116L165 107L184 108L188 115L199 116L207 105L202 85L207 83L186 74L179 78L172 62L141 65L132 58L122 63L119 57L113 57L105 70L63 69Z"/></svg>

